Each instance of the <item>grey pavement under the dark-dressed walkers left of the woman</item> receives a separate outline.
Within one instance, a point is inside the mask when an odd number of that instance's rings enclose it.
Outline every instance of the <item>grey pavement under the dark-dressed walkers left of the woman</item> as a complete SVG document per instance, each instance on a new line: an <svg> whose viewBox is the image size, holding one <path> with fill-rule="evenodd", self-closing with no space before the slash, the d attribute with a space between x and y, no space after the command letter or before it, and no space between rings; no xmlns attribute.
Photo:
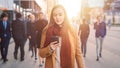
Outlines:
<svg viewBox="0 0 120 68"><path fill-rule="evenodd" d="M14 59L14 46L14 41L11 39L8 51L8 62L3 64L3 61L0 60L0 68L40 68L38 60L35 61L34 57L31 58L31 51L28 51L28 40L25 45L25 60L22 62L20 61L20 51L18 53L18 60Z"/></svg>

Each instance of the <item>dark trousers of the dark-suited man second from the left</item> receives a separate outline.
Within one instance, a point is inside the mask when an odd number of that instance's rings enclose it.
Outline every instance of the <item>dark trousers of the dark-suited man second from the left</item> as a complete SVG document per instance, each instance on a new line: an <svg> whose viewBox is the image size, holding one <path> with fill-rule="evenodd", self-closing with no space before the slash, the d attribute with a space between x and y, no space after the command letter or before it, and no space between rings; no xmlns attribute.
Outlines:
<svg viewBox="0 0 120 68"><path fill-rule="evenodd" d="M25 52L24 52L25 40L15 39L15 38L14 38L14 41L15 41L15 51L14 51L14 55L17 56L17 54L18 54L18 49L19 49L19 47L20 47L21 59L24 59L24 55L25 55Z"/></svg>

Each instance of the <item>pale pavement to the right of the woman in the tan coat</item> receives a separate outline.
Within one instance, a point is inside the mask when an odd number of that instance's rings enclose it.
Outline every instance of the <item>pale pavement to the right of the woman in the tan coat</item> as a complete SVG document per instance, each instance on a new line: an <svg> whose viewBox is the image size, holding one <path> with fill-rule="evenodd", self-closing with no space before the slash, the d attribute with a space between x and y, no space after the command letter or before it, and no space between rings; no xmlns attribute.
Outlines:
<svg viewBox="0 0 120 68"><path fill-rule="evenodd" d="M103 42L102 58L98 62L96 61L94 33L91 29L85 58L86 68L120 68L120 27L111 27L107 30L107 36Z"/></svg>

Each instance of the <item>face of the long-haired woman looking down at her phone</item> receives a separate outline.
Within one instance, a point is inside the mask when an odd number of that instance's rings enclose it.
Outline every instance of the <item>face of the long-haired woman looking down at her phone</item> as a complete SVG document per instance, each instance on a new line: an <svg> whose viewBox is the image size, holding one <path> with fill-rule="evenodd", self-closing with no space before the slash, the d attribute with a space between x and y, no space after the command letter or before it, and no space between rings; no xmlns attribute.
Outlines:
<svg viewBox="0 0 120 68"><path fill-rule="evenodd" d="M53 11L53 19L56 24L61 25L64 22L64 11L61 8L56 8Z"/></svg>

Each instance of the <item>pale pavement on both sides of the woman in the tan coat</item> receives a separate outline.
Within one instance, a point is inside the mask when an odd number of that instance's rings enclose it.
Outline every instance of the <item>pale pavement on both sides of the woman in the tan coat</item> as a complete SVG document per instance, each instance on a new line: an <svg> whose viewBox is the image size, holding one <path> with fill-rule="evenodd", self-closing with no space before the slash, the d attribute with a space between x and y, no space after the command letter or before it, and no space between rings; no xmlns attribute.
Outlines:
<svg viewBox="0 0 120 68"><path fill-rule="evenodd" d="M87 54L84 58L86 68L120 68L120 27L112 26L107 29L107 35L103 42L102 58L96 61L96 42L95 31L91 26L90 36L87 43ZM3 64L0 60L0 68L40 68L38 60L31 58L31 52L28 51L28 41L25 45L25 60L15 60L13 57L14 42L11 39L8 52L8 62ZM19 56L19 54L18 54ZM44 67L43 67L44 68Z"/></svg>

